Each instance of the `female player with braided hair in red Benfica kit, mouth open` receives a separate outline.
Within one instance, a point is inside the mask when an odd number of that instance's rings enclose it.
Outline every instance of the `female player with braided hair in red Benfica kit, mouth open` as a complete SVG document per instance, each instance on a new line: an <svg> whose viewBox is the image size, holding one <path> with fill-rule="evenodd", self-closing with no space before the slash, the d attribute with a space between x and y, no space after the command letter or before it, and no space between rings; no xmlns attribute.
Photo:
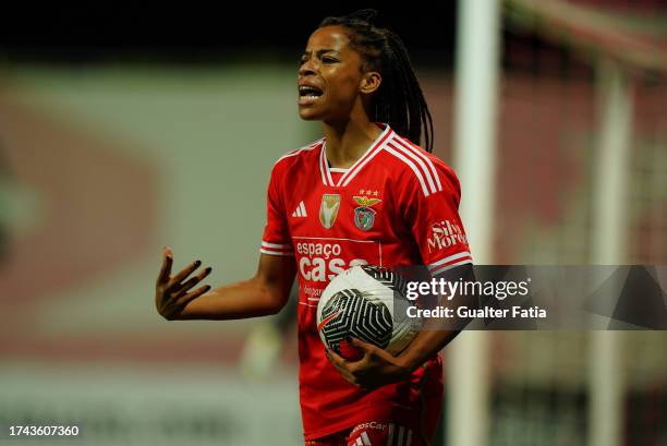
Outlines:
<svg viewBox="0 0 667 446"><path fill-rule="evenodd" d="M308 39L299 114L322 121L324 138L276 162L255 276L195 289L210 268L189 279L197 261L171 277L166 249L157 280L167 320L231 320L279 312L298 275L301 409L313 446L427 444L442 396L438 352L456 336L424 330L398 357L360 340L359 361L325 351L316 308L329 280L357 264L425 264L439 275L472 262L459 182L429 153L430 114L407 50L374 17L328 17Z"/></svg>

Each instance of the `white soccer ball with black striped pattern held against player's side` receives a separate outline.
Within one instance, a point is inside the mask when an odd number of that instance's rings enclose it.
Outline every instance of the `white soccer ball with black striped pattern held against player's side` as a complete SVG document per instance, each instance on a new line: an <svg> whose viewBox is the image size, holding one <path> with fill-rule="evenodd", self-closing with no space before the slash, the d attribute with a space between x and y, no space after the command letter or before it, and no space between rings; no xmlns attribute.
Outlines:
<svg viewBox="0 0 667 446"><path fill-rule="evenodd" d="M379 266L360 265L333 278L317 303L317 330L324 345L349 360L362 352L347 340L361 339L391 354L400 353L419 330L408 316L405 280Z"/></svg>

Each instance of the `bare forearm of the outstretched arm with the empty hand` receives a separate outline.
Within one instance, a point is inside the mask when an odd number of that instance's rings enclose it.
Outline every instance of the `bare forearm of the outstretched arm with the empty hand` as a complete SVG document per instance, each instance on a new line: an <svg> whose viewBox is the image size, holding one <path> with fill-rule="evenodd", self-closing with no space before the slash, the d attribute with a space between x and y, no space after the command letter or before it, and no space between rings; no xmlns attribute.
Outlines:
<svg viewBox="0 0 667 446"><path fill-rule="evenodd" d="M276 314L283 306L256 278L213 289L191 301L179 320L239 320Z"/></svg>

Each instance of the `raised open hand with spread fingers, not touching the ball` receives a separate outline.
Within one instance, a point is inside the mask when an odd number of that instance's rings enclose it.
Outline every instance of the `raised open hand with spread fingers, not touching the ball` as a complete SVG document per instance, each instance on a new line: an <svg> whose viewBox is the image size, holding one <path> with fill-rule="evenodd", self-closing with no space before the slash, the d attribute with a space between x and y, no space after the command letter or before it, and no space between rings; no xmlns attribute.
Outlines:
<svg viewBox="0 0 667 446"><path fill-rule="evenodd" d="M187 277L202 266L201 261L191 263L173 277L171 277L172 264L173 252L171 249L165 248L162 250L162 268L155 285L155 306L158 313L168 321L178 320L187 303L210 290L210 286L206 285L190 291L208 276L211 270L210 267L189 279Z"/></svg>

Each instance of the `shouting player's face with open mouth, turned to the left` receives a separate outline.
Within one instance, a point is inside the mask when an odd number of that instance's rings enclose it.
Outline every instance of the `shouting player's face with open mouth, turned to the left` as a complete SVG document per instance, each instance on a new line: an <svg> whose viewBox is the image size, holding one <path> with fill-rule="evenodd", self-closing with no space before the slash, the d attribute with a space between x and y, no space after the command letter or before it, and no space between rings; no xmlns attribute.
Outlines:
<svg viewBox="0 0 667 446"><path fill-rule="evenodd" d="M301 118L347 120L355 104L361 105L362 64L344 27L325 26L313 33L299 68Z"/></svg>

